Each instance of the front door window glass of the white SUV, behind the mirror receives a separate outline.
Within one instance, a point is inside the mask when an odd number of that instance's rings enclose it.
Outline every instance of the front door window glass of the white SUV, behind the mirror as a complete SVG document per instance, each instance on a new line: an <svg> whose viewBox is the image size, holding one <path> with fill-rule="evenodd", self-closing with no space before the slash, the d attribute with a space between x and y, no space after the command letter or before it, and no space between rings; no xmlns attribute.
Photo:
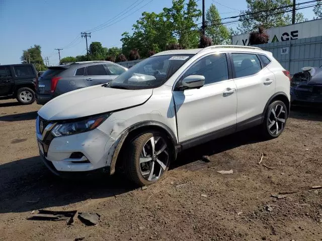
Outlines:
<svg viewBox="0 0 322 241"><path fill-rule="evenodd" d="M202 58L189 68L183 78L194 74L205 76L205 84L228 79L226 54L214 54Z"/></svg>

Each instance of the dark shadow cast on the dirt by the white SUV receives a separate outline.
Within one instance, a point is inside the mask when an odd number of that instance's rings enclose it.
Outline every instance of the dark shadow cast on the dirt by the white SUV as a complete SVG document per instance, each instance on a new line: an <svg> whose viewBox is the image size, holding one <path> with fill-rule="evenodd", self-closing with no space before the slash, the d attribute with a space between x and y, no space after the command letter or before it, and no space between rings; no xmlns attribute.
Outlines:
<svg viewBox="0 0 322 241"><path fill-rule="evenodd" d="M230 135L183 152L172 168L200 160L203 155L210 156L259 141L258 135L252 131ZM89 198L106 198L135 188L121 175L62 179L51 174L39 157L0 165L0 173L0 213L63 206Z"/></svg>

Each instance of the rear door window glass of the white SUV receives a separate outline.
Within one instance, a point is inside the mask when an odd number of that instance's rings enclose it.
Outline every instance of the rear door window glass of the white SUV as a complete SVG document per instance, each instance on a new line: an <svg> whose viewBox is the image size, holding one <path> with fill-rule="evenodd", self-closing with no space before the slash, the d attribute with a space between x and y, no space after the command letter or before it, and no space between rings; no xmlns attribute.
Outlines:
<svg viewBox="0 0 322 241"><path fill-rule="evenodd" d="M253 75L261 71L261 62L256 54L231 54L236 78Z"/></svg>

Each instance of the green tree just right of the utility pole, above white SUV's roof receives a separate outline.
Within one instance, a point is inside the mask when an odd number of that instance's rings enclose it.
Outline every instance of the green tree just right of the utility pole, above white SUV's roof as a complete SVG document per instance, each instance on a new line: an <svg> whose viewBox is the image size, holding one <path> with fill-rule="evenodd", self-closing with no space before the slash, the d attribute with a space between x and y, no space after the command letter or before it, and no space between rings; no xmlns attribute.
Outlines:
<svg viewBox="0 0 322 241"><path fill-rule="evenodd" d="M221 17L215 5L210 5L206 12L206 20L206 35L211 38L212 44L230 44L231 31L221 24Z"/></svg>

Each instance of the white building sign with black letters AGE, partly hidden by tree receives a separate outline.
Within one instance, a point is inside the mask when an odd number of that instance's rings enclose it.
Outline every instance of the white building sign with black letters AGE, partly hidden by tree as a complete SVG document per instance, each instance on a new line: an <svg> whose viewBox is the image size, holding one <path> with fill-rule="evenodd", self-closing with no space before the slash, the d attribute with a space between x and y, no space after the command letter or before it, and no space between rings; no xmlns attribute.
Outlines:
<svg viewBox="0 0 322 241"><path fill-rule="evenodd" d="M269 43L322 36L322 19L267 29L266 32L270 36ZM232 36L232 44L250 45L249 35L250 33Z"/></svg>

